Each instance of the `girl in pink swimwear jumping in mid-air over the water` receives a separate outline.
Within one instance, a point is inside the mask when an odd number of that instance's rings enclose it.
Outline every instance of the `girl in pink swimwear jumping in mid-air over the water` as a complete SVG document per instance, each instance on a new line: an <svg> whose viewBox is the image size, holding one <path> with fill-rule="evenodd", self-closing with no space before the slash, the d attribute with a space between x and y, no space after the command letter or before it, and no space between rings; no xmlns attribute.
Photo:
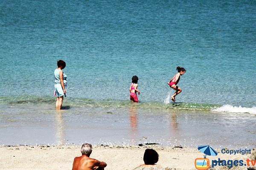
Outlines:
<svg viewBox="0 0 256 170"><path fill-rule="evenodd" d="M178 95L180 92L182 92L180 87L177 86L178 82L180 81L180 75L184 75L186 72L186 70L180 66L177 66L176 70L178 70L178 73L172 78L170 82L167 83L172 89L176 90L176 92L171 97L172 101L174 102L176 102L175 96Z"/></svg>

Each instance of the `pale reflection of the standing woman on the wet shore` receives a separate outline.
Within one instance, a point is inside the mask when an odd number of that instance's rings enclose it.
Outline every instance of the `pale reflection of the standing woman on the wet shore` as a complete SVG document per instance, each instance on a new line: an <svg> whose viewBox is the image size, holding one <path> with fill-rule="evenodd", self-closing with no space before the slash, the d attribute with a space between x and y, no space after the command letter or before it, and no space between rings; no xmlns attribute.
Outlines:
<svg viewBox="0 0 256 170"><path fill-rule="evenodd" d="M55 112L55 130L57 144L63 144L65 141L65 124L63 120L63 112L58 110Z"/></svg>

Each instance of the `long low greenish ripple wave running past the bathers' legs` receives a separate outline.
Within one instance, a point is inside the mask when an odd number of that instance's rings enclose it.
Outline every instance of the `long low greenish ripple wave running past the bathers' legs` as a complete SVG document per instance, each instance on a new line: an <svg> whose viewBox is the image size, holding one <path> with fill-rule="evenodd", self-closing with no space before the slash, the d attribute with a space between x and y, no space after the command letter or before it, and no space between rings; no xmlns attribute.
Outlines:
<svg viewBox="0 0 256 170"><path fill-rule="evenodd" d="M170 94L169 94L170 95ZM210 111L213 108L221 107L216 104L197 104L197 103L170 103L169 95L165 103L161 102L140 102L133 104L128 100L104 99L95 100L90 98L65 98L64 106L66 107L81 107L81 108L105 108L105 109L127 109L135 107L137 109L176 109L176 110L202 110ZM50 96L16 96L16 97L0 97L0 104L7 105L54 105L55 98Z"/></svg>

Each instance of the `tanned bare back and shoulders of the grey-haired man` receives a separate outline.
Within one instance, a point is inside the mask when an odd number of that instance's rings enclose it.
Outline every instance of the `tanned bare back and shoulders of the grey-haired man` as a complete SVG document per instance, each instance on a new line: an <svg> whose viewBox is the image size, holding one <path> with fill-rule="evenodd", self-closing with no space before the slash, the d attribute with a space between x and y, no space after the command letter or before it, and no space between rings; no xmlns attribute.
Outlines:
<svg viewBox="0 0 256 170"><path fill-rule="evenodd" d="M106 166L105 162L82 155L74 159L72 170L104 170Z"/></svg>

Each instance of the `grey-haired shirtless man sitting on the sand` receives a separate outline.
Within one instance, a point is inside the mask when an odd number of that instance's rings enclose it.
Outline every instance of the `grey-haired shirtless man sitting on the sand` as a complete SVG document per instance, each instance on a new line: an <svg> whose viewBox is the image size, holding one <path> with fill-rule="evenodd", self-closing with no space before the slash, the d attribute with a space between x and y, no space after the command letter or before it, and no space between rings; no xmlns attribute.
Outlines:
<svg viewBox="0 0 256 170"><path fill-rule="evenodd" d="M81 147L82 156L74 159L72 170L104 170L107 166L105 162L89 158L92 150L91 144L83 144Z"/></svg>

